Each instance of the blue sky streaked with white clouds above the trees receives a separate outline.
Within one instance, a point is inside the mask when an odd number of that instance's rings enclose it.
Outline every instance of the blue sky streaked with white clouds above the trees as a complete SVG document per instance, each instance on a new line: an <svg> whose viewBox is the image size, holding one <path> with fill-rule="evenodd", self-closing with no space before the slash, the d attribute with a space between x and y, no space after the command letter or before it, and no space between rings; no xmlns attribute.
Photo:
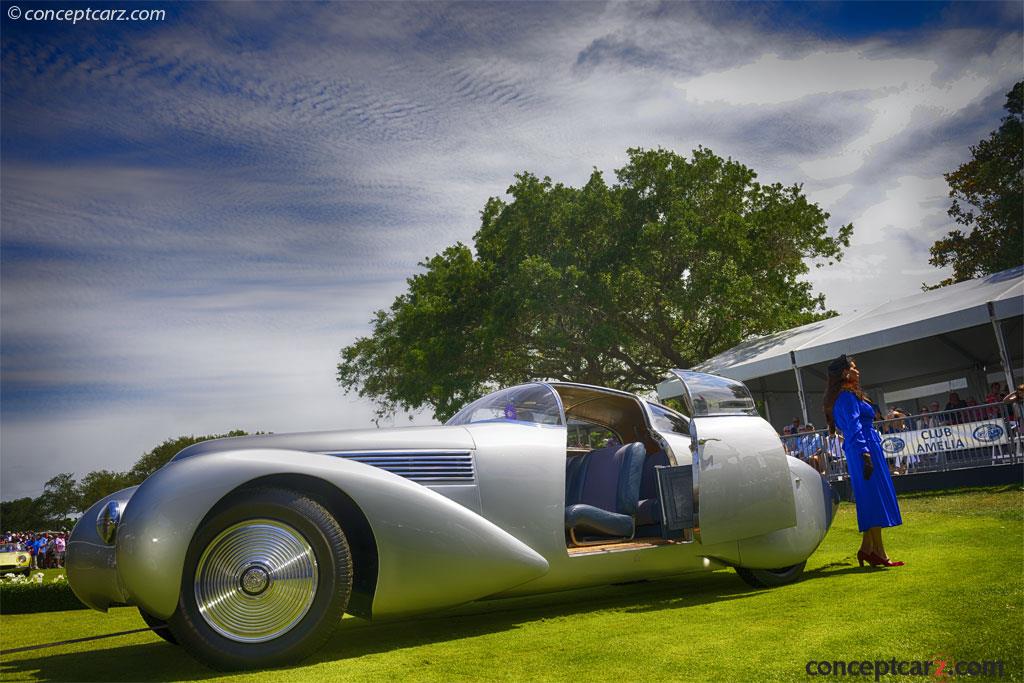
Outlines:
<svg viewBox="0 0 1024 683"><path fill-rule="evenodd" d="M808 275L830 308L912 293L1024 73L1020 2L0 4L3 500L372 426L339 349L520 171L703 145L853 222Z"/></svg>

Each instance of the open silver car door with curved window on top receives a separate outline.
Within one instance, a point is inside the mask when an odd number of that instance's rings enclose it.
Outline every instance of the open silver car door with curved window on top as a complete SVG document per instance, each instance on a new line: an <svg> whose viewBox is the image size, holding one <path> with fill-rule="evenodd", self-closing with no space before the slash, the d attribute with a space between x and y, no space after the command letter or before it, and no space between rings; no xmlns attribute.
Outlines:
<svg viewBox="0 0 1024 683"><path fill-rule="evenodd" d="M701 544L796 525L787 456L742 382L674 370L657 395L665 403L681 400L690 417L693 524Z"/></svg>

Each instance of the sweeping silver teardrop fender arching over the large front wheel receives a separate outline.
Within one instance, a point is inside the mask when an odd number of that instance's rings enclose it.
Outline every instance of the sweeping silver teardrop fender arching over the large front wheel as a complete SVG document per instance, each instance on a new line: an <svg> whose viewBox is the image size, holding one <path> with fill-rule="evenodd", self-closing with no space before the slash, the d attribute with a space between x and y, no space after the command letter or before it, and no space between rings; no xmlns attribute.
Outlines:
<svg viewBox="0 0 1024 683"><path fill-rule="evenodd" d="M378 555L374 616L467 602L548 571L547 560L483 517L385 470L296 451L228 451L172 463L132 496L118 528L117 566L139 606L168 618L203 518L231 490L275 474L323 479L366 515Z"/></svg>

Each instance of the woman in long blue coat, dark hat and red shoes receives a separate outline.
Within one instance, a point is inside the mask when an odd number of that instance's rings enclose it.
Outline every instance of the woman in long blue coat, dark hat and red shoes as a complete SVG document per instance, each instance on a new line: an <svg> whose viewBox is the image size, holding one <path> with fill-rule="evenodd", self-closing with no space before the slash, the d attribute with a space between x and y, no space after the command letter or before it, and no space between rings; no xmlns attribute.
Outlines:
<svg viewBox="0 0 1024 683"><path fill-rule="evenodd" d="M857 526L864 533L857 551L860 566L901 566L886 554L882 527L903 523L896 502L896 489L882 452L882 439L874 430L874 409L860 388L860 372L845 353L828 366L828 386L824 398L828 433L843 432L843 453L850 473L850 485L857 504Z"/></svg>

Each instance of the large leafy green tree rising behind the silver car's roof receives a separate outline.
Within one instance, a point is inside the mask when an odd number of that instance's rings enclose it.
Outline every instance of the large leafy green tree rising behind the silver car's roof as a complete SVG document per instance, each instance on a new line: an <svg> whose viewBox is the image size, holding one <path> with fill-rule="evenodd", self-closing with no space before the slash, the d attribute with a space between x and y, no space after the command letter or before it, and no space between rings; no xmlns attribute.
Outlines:
<svg viewBox="0 0 1024 683"><path fill-rule="evenodd" d="M569 380L649 389L736 343L827 315L802 279L839 260L852 225L799 185L761 184L732 159L697 148L630 150L608 184L529 173L492 198L474 249L420 265L341 351L338 381L381 417L446 419L497 385Z"/></svg>

